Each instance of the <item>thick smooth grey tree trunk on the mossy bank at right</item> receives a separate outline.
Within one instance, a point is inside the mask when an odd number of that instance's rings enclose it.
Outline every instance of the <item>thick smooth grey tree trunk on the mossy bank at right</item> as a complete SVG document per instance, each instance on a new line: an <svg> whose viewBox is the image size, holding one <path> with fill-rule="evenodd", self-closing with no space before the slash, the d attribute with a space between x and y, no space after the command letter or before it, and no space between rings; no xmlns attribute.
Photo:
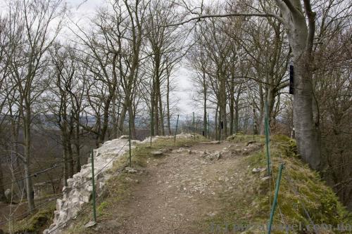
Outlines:
<svg viewBox="0 0 352 234"><path fill-rule="evenodd" d="M279 4L279 1L277 1ZM306 17L301 2L291 1L294 8L279 5L286 22L287 35L292 48L294 61L294 128L298 152L313 169L321 169L319 122L313 119L313 84L311 65L313 63L312 48L315 33L315 13L310 1L303 0ZM296 10L295 10L296 9ZM314 103L315 105L315 103Z"/></svg>

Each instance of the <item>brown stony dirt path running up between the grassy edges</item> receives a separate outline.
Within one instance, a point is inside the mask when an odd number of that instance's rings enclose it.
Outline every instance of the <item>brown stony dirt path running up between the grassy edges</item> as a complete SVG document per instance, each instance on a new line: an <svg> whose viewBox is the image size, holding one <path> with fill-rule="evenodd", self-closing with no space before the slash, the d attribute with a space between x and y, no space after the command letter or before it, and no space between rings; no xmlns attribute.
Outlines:
<svg viewBox="0 0 352 234"><path fill-rule="evenodd" d="M161 158L149 158L149 166L129 201L115 210L122 219L101 223L98 230L124 234L209 233L200 223L226 206L221 202L224 194L234 195L242 186L239 174L244 165L239 151L245 147L244 143L201 143L166 152Z"/></svg>

